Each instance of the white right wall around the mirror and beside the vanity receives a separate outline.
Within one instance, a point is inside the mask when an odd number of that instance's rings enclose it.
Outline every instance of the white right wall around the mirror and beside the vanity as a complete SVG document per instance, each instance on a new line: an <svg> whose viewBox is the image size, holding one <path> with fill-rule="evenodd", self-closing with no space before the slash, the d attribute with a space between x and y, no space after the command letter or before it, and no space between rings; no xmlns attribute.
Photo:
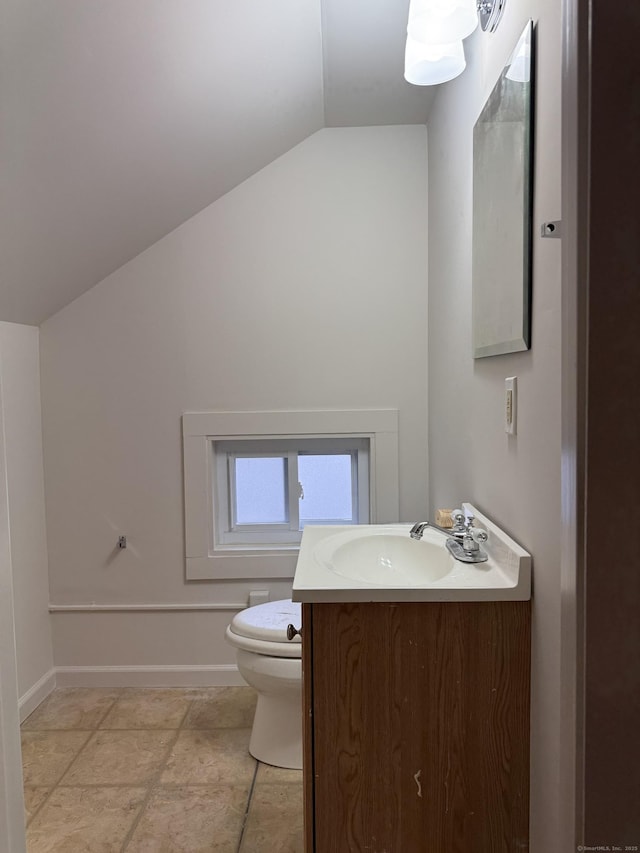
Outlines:
<svg viewBox="0 0 640 853"><path fill-rule="evenodd" d="M442 87L429 133L431 506L477 504L534 558L531 851L559 851L561 4L511 0L497 33L466 43L468 68ZM528 17L537 24L533 344L471 358L472 130ZM518 435L503 428L504 379L518 376Z"/></svg>

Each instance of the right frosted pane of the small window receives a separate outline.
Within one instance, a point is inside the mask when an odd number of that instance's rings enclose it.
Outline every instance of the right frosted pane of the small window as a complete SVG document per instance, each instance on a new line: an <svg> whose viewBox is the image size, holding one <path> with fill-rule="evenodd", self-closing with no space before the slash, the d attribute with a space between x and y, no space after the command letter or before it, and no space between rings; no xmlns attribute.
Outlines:
<svg viewBox="0 0 640 853"><path fill-rule="evenodd" d="M350 454L300 454L298 479L304 492L300 527L319 521L353 521Z"/></svg>

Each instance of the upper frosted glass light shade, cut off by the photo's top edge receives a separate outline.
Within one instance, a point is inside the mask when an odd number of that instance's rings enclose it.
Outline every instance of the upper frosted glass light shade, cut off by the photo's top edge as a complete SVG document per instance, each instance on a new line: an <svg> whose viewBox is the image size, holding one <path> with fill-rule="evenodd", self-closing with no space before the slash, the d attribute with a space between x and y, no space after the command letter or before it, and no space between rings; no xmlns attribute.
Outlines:
<svg viewBox="0 0 640 853"><path fill-rule="evenodd" d="M409 38L424 44L451 44L478 26L475 0L411 0Z"/></svg>

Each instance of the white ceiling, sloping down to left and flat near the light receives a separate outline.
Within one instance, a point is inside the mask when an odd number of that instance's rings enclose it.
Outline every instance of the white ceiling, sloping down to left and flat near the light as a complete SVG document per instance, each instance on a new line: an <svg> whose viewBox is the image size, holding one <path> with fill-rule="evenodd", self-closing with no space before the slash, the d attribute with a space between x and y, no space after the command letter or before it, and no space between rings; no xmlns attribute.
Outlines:
<svg viewBox="0 0 640 853"><path fill-rule="evenodd" d="M426 121L408 0L4 0L0 320L38 325L324 126Z"/></svg>

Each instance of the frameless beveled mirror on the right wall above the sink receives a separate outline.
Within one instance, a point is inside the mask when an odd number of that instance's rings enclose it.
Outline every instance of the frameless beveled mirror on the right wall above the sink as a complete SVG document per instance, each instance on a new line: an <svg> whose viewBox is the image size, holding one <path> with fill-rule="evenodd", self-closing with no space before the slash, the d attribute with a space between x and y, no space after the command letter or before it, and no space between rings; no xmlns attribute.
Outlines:
<svg viewBox="0 0 640 853"><path fill-rule="evenodd" d="M533 22L473 129L473 357L531 346Z"/></svg>

